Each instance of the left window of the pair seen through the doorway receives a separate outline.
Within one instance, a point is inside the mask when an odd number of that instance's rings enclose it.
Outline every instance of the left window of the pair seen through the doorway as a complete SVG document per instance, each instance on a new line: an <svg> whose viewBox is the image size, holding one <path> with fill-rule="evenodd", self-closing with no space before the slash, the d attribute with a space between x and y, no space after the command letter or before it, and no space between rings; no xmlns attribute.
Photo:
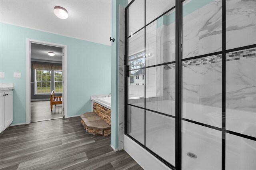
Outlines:
<svg viewBox="0 0 256 170"><path fill-rule="evenodd" d="M36 94L51 93L51 71L36 69Z"/></svg>

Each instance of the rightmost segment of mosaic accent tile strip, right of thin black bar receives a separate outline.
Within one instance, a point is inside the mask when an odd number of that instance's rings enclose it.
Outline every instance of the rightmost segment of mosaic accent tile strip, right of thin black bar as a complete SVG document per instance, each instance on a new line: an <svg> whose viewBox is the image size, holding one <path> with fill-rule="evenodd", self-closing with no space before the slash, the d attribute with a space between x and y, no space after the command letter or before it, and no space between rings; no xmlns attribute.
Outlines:
<svg viewBox="0 0 256 170"><path fill-rule="evenodd" d="M256 48L243 49L240 51L226 53L226 61L235 61L239 59L248 59L256 57Z"/></svg>

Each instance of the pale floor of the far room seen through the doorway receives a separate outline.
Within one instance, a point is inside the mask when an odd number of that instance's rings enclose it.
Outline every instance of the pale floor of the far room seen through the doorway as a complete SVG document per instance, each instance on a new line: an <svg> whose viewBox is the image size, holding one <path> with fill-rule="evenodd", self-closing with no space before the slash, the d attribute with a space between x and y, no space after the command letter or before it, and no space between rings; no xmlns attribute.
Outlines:
<svg viewBox="0 0 256 170"><path fill-rule="evenodd" d="M62 105L53 105L52 111L50 101L31 102L31 122L46 121L63 117Z"/></svg>

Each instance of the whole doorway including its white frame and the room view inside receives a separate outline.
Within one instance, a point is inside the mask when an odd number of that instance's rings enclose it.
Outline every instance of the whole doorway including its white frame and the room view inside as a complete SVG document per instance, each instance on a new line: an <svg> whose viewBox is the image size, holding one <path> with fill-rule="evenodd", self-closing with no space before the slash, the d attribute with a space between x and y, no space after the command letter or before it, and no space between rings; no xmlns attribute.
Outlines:
<svg viewBox="0 0 256 170"><path fill-rule="evenodd" d="M27 39L27 124L66 117L66 52L66 45Z"/></svg>

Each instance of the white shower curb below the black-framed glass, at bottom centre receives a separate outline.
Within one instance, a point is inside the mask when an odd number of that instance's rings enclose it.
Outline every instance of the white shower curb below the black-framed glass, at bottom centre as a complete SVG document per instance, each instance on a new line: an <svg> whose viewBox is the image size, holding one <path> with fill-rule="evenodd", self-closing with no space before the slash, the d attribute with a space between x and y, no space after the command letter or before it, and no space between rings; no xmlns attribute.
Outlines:
<svg viewBox="0 0 256 170"><path fill-rule="evenodd" d="M145 170L170 170L146 149L124 135L124 150Z"/></svg>

